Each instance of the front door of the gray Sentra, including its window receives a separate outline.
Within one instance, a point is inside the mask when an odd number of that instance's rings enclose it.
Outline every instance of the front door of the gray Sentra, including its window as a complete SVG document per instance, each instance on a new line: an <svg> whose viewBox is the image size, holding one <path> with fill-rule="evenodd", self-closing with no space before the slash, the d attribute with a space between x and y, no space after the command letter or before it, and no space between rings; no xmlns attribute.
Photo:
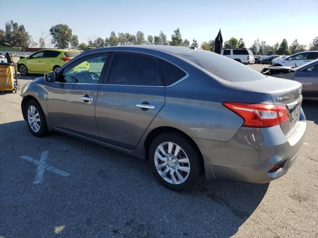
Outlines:
<svg viewBox="0 0 318 238"><path fill-rule="evenodd" d="M85 56L59 72L58 81L48 88L47 109L53 127L98 139L95 104L107 57L105 53Z"/></svg>

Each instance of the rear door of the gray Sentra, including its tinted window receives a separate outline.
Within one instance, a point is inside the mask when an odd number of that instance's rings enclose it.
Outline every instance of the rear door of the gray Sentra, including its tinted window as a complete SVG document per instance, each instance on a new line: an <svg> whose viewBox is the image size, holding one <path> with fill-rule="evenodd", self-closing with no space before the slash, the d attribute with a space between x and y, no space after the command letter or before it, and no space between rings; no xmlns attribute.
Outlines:
<svg viewBox="0 0 318 238"><path fill-rule="evenodd" d="M118 52L111 61L95 107L99 140L134 150L165 103L159 60Z"/></svg>

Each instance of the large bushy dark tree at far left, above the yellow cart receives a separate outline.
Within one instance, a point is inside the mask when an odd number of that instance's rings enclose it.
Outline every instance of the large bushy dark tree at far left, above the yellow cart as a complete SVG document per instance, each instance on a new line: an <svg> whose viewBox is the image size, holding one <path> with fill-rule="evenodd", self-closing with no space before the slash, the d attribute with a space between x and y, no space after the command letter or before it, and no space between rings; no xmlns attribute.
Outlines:
<svg viewBox="0 0 318 238"><path fill-rule="evenodd" d="M22 47L25 49L29 46L31 36L25 30L23 25L10 20L5 23L4 30L4 44L9 47Z"/></svg>

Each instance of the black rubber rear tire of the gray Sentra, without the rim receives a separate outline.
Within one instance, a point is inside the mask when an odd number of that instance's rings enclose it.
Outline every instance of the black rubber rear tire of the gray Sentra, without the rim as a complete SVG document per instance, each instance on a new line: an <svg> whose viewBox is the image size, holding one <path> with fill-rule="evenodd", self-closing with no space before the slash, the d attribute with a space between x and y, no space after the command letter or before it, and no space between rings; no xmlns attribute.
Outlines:
<svg viewBox="0 0 318 238"><path fill-rule="evenodd" d="M185 181L179 184L172 184L164 180L158 173L155 165L155 152L157 147L164 142L172 142L179 145L185 152L189 159L190 172ZM149 161L151 170L154 176L159 180L165 187L174 191L186 191L196 185L203 174L203 163L201 154L198 149L193 145L189 139L185 138L184 135L176 132L164 132L159 134L150 145L149 149ZM166 167L165 167L166 168Z"/></svg>

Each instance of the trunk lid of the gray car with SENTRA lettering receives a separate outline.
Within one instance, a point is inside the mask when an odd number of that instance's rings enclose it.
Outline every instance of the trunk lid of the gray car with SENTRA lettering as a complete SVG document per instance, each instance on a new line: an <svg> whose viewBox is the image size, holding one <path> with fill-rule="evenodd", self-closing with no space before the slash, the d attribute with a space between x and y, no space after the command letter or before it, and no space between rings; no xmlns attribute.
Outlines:
<svg viewBox="0 0 318 238"><path fill-rule="evenodd" d="M254 92L267 93L273 104L286 106L289 110L289 120L282 123L281 128L285 135L293 131L301 113L301 102L303 100L301 83L271 76L260 80L233 83Z"/></svg>

